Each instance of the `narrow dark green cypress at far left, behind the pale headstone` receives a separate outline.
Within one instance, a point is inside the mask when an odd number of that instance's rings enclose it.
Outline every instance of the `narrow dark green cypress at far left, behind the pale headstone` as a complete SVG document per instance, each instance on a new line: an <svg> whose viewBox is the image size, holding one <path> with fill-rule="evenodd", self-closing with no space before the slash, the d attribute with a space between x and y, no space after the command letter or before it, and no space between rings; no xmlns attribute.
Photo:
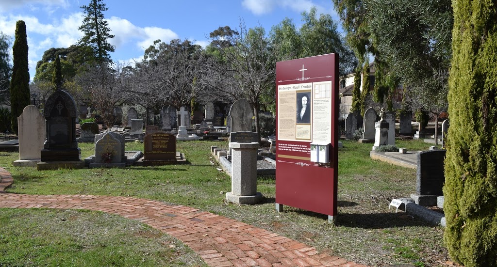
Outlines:
<svg viewBox="0 0 497 267"><path fill-rule="evenodd" d="M15 25L15 41L12 47L12 78L10 80L10 113L12 131L17 133L17 117L29 105L29 68L26 24L19 20Z"/></svg>

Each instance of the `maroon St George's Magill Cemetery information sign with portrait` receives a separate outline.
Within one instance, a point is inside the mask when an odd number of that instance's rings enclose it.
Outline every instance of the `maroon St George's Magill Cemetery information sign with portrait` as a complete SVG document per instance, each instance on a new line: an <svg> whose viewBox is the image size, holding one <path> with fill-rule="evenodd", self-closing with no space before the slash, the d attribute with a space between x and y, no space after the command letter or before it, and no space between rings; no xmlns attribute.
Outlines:
<svg viewBox="0 0 497 267"><path fill-rule="evenodd" d="M336 217L338 55L276 63L276 209Z"/></svg>

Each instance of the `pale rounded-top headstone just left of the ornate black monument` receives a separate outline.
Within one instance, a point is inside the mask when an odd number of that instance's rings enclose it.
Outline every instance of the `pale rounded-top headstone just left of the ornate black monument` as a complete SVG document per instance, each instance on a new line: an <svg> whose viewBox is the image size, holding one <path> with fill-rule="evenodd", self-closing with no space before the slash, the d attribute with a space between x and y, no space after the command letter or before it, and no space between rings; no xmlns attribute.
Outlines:
<svg viewBox="0 0 497 267"><path fill-rule="evenodd" d="M41 150L46 138L45 118L41 116L38 107L29 105L17 117L19 136L19 160L14 166L35 166L41 159Z"/></svg>

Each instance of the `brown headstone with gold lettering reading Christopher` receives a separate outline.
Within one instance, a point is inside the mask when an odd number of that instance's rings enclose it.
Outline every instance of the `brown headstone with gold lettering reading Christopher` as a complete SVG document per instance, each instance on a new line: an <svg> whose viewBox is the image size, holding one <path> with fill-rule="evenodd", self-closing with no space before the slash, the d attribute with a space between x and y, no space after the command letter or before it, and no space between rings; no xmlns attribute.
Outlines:
<svg viewBox="0 0 497 267"><path fill-rule="evenodd" d="M145 135L144 160L175 161L176 137L173 134L153 133Z"/></svg>

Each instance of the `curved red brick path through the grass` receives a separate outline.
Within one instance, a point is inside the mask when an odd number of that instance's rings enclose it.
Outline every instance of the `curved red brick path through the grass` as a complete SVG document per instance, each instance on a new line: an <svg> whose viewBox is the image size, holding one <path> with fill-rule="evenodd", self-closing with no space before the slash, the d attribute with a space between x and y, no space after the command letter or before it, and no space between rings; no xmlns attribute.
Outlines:
<svg viewBox="0 0 497 267"><path fill-rule="evenodd" d="M0 167L0 207L99 210L138 220L179 239L209 266L363 267L247 223L188 206L128 197L8 194L10 173Z"/></svg>

